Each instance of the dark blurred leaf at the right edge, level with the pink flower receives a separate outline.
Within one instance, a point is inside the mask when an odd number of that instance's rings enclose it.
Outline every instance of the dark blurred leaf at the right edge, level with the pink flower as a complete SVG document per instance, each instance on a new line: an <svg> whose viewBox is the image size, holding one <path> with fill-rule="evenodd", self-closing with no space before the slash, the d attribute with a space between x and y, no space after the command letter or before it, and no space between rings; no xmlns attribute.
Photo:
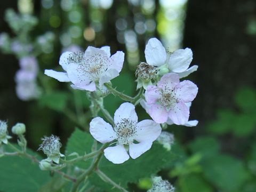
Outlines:
<svg viewBox="0 0 256 192"><path fill-rule="evenodd" d="M245 112L256 111L256 91L250 87L242 87L235 95L236 105Z"/></svg>

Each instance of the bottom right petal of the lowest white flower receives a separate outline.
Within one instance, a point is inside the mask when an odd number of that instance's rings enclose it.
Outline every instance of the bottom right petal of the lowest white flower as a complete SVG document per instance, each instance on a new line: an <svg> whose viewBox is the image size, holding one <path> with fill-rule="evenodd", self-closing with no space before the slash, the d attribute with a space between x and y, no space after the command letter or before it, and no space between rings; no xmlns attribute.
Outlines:
<svg viewBox="0 0 256 192"><path fill-rule="evenodd" d="M150 141L140 142L138 144L132 143L129 146L129 154L133 159L135 159L135 158L141 156L147 150L149 150L151 148L151 146L152 146L152 142L150 142Z"/></svg>

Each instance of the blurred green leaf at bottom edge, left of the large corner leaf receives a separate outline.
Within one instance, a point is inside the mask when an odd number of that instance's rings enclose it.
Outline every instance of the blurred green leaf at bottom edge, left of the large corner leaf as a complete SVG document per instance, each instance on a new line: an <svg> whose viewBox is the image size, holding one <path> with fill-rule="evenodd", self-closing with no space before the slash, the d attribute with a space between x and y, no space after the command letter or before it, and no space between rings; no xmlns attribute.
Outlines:
<svg viewBox="0 0 256 192"><path fill-rule="evenodd" d="M188 175L179 180L181 192L212 192L213 189L201 175Z"/></svg>

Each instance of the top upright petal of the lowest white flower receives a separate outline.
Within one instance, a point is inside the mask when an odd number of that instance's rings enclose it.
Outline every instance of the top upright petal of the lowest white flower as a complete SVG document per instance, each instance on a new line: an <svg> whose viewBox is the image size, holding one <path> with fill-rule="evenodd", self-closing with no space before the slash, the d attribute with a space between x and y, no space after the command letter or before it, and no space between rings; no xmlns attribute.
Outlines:
<svg viewBox="0 0 256 192"><path fill-rule="evenodd" d="M135 112L135 107L132 103L125 102L116 110L114 115L115 124L121 122L123 118L131 119L135 123L138 122L138 116Z"/></svg>

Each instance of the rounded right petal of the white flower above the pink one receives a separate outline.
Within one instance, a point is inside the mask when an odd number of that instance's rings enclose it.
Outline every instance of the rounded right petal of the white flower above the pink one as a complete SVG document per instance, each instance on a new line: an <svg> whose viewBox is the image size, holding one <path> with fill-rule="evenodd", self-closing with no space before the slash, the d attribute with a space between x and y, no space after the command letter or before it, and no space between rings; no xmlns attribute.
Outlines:
<svg viewBox="0 0 256 192"><path fill-rule="evenodd" d="M180 49L170 55L168 67L175 73L181 73L188 69L191 61L193 60L193 52L191 49Z"/></svg>

